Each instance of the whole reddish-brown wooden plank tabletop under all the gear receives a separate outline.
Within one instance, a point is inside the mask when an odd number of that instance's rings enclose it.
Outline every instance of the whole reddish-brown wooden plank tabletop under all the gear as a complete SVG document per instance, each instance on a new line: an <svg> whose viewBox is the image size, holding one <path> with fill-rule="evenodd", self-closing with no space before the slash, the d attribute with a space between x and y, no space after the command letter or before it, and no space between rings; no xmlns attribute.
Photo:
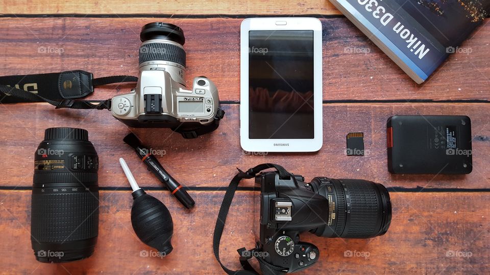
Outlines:
<svg viewBox="0 0 490 275"><path fill-rule="evenodd" d="M3 104L0 109L0 273L198 274L222 273L212 253L212 233L224 189L235 167L282 164L308 180L314 176L362 178L389 187L393 219L386 235L367 240L304 241L320 248L317 273L488 273L490 269L490 24L464 42L470 54L450 56L424 85L416 85L328 1L2 1L0 75L84 69L95 77L138 73L139 31L166 21L186 36L187 82L206 75L219 89L226 117L219 129L184 140L168 129L136 129L145 144L164 150L165 169L189 188L196 206L186 211L146 171L122 142L130 130L106 111L55 110L44 103ZM239 145L239 25L263 15L314 16L323 23L324 146L318 153L247 155ZM41 53L40 47L58 49ZM362 48L350 53L348 47ZM62 51L62 52L61 52ZM97 89L90 99L126 93L131 85ZM395 114L468 115L473 126L473 173L467 176L390 175L386 119ZM95 253L65 264L41 264L30 241L30 198L35 149L48 127L89 131L101 159L100 227ZM344 154L348 132L364 132L367 154ZM136 180L174 218L174 252L149 250L130 223L125 157ZM242 182L228 217L221 255L239 268L236 249L252 248L252 180ZM345 257L347 251L364 257ZM451 251L460 257L451 256Z"/></svg>

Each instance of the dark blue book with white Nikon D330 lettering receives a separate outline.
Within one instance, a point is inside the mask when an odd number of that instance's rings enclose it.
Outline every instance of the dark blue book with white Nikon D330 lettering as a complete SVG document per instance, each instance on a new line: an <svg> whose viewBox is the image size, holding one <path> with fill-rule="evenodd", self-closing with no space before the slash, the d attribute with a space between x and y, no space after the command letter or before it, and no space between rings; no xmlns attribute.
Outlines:
<svg viewBox="0 0 490 275"><path fill-rule="evenodd" d="M487 16L490 0L330 0L421 84Z"/></svg>

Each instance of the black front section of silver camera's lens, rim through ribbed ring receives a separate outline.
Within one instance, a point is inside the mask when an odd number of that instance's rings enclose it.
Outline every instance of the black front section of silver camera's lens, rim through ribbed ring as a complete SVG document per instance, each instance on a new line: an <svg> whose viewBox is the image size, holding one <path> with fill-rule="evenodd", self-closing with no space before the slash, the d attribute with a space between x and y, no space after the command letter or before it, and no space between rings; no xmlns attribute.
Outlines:
<svg viewBox="0 0 490 275"><path fill-rule="evenodd" d="M139 35L139 64L148 61L174 62L185 67L184 32L169 23L154 22L143 26ZM155 41L154 41L155 40Z"/></svg>

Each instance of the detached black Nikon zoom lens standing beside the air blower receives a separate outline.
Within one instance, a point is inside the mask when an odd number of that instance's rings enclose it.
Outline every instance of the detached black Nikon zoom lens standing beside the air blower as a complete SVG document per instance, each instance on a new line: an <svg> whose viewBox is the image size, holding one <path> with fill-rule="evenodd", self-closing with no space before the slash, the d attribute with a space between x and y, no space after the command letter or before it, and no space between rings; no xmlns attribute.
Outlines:
<svg viewBox="0 0 490 275"><path fill-rule="evenodd" d="M99 231L99 157L88 132L48 128L34 155L31 243L40 262L93 254Z"/></svg>

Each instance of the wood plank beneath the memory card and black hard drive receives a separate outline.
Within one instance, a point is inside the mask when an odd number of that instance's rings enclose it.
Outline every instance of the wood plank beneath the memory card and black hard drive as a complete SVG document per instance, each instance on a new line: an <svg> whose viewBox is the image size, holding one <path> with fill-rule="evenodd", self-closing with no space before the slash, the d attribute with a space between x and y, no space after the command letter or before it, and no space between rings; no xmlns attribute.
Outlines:
<svg viewBox="0 0 490 275"><path fill-rule="evenodd" d="M45 103L4 104L0 111L0 163L8 177L0 186L32 184L33 156L48 127L81 127L99 153L100 186L128 186L119 167L124 157L142 186L162 186L146 171L132 149L122 142L129 129L107 111L55 110ZM315 176L362 178L403 187L487 188L490 180L490 127L485 103L324 104L324 146L318 153L243 152L239 140L239 105L224 104L219 128L195 140L184 140L169 129L132 129L150 146L164 168L186 186L228 186L235 167L248 169L263 162L283 165L308 180ZM386 160L386 120L393 115L468 115L473 130L473 172L469 175L391 175ZM16 125L12 127L12 125ZM346 156L346 134L364 132L365 156ZM313 164L313 165L312 165Z"/></svg>

